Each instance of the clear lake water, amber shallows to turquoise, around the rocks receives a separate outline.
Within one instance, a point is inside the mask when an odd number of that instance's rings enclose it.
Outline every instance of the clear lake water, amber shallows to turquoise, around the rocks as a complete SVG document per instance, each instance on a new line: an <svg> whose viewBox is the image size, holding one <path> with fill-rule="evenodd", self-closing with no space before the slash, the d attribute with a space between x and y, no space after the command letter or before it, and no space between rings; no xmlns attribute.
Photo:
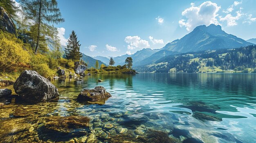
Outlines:
<svg viewBox="0 0 256 143"><path fill-rule="evenodd" d="M0 142L65 142L90 132L106 142L111 128L122 134L138 127L133 138L153 129L183 143L256 142L256 74L98 74L52 83L60 93L57 101L29 105L0 99ZM84 88L95 86L112 95L104 105L76 101ZM45 129L56 116L86 116L91 127L68 133ZM107 136L99 135L102 130Z"/></svg>

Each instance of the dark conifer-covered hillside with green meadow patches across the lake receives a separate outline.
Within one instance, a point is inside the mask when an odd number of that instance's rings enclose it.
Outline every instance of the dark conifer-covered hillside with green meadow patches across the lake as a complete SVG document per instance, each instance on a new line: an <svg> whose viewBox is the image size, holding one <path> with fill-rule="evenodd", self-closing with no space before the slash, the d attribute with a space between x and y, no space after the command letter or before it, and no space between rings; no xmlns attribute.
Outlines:
<svg viewBox="0 0 256 143"><path fill-rule="evenodd" d="M153 66L139 66L135 69L139 72L168 73L175 68L176 72L196 73L199 71L199 62L191 59L198 58L209 68L219 67L224 70L238 70L248 73L248 68L256 68L256 45L249 45L235 49L220 49L216 51L199 51L171 55L157 60Z"/></svg>

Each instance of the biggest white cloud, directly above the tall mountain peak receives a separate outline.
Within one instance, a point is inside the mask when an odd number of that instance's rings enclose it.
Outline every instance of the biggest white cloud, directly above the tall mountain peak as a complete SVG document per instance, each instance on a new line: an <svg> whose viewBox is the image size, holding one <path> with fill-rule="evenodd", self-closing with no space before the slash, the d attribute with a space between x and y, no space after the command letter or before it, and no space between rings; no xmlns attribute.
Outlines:
<svg viewBox="0 0 256 143"><path fill-rule="evenodd" d="M182 11L182 16L185 16L186 20L179 21L180 27L185 26L187 31L191 31L198 25L219 24L216 18L219 10L220 6L210 1L203 2L198 7L191 3L191 7Z"/></svg>

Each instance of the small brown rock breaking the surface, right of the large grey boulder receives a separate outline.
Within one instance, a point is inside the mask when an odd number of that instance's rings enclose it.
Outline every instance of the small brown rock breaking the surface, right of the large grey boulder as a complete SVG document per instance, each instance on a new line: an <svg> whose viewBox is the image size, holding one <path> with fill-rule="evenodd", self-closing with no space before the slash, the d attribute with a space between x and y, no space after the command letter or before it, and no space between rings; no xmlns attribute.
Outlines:
<svg viewBox="0 0 256 143"><path fill-rule="evenodd" d="M77 97L79 101L100 101L111 97L110 93L102 86L96 86L94 89L84 89Z"/></svg>

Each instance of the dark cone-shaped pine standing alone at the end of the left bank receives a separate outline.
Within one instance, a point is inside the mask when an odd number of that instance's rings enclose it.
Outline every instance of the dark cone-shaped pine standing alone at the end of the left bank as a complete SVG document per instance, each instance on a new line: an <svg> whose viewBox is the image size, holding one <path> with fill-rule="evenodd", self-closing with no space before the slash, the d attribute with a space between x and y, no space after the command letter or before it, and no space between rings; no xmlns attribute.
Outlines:
<svg viewBox="0 0 256 143"><path fill-rule="evenodd" d="M83 57L82 53L80 52L79 41L77 41L75 31L72 31L70 34L70 38L67 40L67 48L65 48L65 54L67 59L72 59L74 62L79 62L81 57Z"/></svg>

